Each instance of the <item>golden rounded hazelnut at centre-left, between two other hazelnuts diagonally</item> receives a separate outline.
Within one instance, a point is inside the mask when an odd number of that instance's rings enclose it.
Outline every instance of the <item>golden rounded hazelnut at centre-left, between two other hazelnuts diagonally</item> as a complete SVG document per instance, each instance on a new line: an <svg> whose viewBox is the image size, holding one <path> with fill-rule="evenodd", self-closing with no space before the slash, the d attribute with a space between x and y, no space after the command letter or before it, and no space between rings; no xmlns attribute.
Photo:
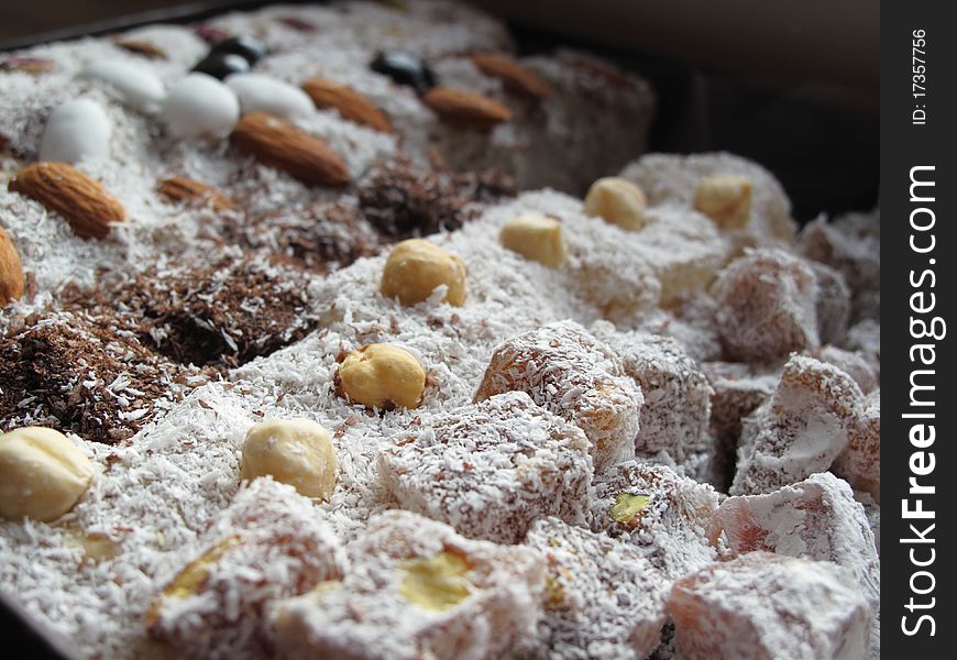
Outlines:
<svg viewBox="0 0 957 660"><path fill-rule="evenodd" d="M350 402L371 408L417 408L426 388L426 372L398 346L369 344L339 365L336 387Z"/></svg>

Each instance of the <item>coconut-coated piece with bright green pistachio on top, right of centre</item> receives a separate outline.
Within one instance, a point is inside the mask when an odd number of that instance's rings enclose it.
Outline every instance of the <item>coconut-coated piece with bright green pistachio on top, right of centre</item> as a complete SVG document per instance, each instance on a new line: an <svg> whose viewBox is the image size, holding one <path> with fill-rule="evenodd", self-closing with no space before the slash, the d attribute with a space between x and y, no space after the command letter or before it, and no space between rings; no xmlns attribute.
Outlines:
<svg viewBox="0 0 957 660"><path fill-rule="evenodd" d="M707 530L718 494L666 465L630 461L595 480L592 529L622 538L674 580L714 561Z"/></svg>

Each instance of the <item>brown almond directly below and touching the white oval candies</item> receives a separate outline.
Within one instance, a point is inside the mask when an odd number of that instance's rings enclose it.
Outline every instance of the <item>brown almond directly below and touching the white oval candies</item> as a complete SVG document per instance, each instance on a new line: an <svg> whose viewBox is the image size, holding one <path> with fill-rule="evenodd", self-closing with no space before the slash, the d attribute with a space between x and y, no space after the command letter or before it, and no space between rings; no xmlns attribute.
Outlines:
<svg viewBox="0 0 957 660"><path fill-rule="evenodd" d="M307 185L344 186L349 168L324 141L265 112L246 114L232 132L243 152Z"/></svg>

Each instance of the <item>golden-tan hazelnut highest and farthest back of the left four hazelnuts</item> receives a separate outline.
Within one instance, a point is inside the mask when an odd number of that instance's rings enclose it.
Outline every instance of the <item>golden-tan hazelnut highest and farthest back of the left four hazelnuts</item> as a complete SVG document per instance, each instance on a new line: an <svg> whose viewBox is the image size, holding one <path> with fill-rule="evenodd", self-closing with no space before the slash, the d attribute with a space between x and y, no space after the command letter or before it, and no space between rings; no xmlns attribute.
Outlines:
<svg viewBox="0 0 957 660"><path fill-rule="evenodd" d="M465 263L457 255L421 239L403 241L389 253L380 290L403 305L421 302L446 285L443 302L465 302Z"/></svg>

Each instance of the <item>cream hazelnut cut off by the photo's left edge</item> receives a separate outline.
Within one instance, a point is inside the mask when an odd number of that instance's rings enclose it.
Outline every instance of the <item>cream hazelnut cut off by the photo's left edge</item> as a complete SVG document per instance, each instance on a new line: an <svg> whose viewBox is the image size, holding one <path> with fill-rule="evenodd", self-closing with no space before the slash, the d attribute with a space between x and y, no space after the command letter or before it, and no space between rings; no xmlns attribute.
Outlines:
<svg viewBox="0 0 957 660"><path fill-rule="evenodd" d="M89 459L59 431L24 427L0 435L0 517L55 520L92 479Z"/></svg>

